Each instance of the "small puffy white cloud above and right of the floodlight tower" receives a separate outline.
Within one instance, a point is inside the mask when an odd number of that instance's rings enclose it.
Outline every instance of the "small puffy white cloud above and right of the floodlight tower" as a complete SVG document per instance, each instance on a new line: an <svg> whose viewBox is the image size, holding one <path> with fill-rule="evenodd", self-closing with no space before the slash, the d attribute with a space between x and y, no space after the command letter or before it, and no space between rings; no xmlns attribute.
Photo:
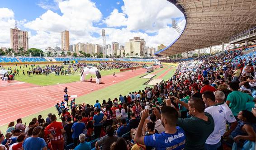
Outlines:
<svg viewBox="0 0 256 150"><path fill-rule="evenodd" d="M125 14L119 13L118 9L114 9L104 22L108 27L120 27L127 25L127 18Z"/></svg>

